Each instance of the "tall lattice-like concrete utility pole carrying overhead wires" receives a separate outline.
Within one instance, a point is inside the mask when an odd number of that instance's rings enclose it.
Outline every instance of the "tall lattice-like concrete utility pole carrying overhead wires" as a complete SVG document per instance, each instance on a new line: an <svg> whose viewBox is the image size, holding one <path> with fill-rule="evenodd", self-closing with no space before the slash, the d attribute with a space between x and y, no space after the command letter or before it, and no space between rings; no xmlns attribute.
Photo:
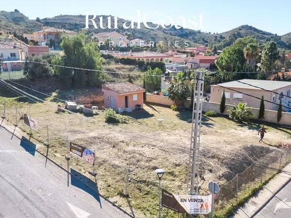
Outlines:
<svg viewBox="0 0 291 218"><path fill-rule="evenodd" d="M204 88L204 72L196 71L193 94L192 131L189 156L189 179L187 184L188 193L190 195L198 194L199 188L198 187L199 146L200 146L200 127L202 118L203 88Z"/></svg>

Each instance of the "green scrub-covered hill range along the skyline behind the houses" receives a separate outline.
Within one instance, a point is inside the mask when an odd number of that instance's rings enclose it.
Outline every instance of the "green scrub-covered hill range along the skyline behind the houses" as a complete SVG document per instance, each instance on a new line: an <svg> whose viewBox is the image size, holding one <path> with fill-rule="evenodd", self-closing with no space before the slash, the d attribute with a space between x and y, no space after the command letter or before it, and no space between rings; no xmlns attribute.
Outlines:
<svg viewBox="0 0 291 218"><path fill-rule="evenodd" d="M103 16L104 26L107 26L107 17L108 16ZM186 28L176 29L175 27L170 29L163 29L162 27L158 29L147 29L143 24L141 24L141 29L124 29L122 26L124 22L126 22L126 20L118 18L118 29L112 29L112 31L118 31L120 33L129 31L132 33L133 38L141 38L145 41L164 41L165 44L167 44L168 41L179 41L181 44L183 44L184 41L189 41L190 46L217 45L219 49L223 49L226 46L230 46L238 38L252 36L258 39L260 44L273 40L277 43L280 49L291 49L291 33L278 36L277 34L262 31L249 25L242 25L233 30L222 33L211 33ZM108 29L100 29L98 24L98 29L95 29L91 22L89 22L89 25L89 33L108 31ZM156 24L153 23L148 23L148 25L152 27L156 26ZM0 30L16 31L17 33L31 33L33 31L41 30L43 26L60 29L63 28L70 31L81 31L85 27L85 16L60 15L44 18L41 19L40 22L37 22L35 20L30 20L27 16L24 16L18 11L0 11ZM113 26L112 19L112 27ZM137 26L137 23L135 23L135 26Z"/></svg>

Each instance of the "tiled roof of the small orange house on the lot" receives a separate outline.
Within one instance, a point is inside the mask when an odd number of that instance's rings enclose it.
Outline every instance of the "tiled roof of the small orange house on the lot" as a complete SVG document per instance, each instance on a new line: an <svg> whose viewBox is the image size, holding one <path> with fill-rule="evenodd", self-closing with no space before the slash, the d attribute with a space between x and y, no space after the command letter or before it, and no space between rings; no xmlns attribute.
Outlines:
<svg viewBox="0 0 291 218"><path fill-rule="evenodd" d="M102 89L110 89L116 93L134 93L134 92L145 92L146 90L140 86L134 85L130 82L110 82L104 83Z"/></svg>

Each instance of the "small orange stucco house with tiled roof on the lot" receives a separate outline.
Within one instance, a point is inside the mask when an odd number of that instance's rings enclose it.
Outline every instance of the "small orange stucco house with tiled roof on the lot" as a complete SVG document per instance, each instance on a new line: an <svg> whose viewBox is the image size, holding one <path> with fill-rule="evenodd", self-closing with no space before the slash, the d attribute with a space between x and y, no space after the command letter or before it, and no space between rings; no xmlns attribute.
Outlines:
<svg viewBox="0 0 291 218"><path fill-rule="evenodd" d="M110 82L102 85L105 108L112 108L116 111L130 111L140 105L143 108L143 93L146 90L130 82Z"/></svg>

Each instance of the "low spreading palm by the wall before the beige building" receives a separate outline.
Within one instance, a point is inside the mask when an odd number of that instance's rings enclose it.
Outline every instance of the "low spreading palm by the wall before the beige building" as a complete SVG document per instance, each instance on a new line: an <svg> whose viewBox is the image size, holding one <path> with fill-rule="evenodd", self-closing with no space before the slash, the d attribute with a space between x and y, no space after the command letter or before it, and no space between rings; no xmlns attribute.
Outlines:
<svg viewBox="0 0 291 218"><path fill-rule="evenodd" d="M246 107L246 103L239 103L228 110L229 118L234 119L235 121L244 121L248 120L252 115L252 109Z"/></svg>

